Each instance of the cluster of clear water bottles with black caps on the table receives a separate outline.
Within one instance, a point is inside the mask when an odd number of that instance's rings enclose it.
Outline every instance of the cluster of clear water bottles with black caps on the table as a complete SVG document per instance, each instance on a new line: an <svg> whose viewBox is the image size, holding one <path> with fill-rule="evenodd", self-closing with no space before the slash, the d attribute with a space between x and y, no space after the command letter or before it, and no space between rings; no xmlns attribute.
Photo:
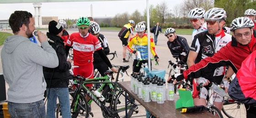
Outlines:
<svg viewBox="0 0 256 118"><path fill-rule="evenodd" d="M174 100L174 84L173 81L168 82L168 88L164 79L158 78L156 75L152 78L145 77L143 73L131 74L131 90L142 98L144 102L164 103L167 100Z"/></svg>

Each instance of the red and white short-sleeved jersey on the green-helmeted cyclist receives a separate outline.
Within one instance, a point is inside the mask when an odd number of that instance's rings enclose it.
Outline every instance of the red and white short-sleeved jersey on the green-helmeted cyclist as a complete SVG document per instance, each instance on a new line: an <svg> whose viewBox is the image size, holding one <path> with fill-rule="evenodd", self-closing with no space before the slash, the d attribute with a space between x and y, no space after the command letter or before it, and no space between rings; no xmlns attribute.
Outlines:
<svg viewBox="0 0 256 118"><path fill-rule="evenodd" d="M73 47L75 66L92 64L94 51L102 48L101 42L95 36L90 33L83 36L79 32L69 36L67 45Z"/></svg>

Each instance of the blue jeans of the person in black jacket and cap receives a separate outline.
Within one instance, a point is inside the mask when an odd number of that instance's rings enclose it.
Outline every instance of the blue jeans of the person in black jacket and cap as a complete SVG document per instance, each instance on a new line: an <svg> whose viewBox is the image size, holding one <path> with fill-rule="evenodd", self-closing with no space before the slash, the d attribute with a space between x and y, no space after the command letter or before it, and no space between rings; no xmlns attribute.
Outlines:
<svg viewBox="0 0 256 118"><path fill-rule="evenodd" d="M62 118L71 118L69 103L69 88L47 88L46 118L55 118L57 97L61 108Z"/></svg>

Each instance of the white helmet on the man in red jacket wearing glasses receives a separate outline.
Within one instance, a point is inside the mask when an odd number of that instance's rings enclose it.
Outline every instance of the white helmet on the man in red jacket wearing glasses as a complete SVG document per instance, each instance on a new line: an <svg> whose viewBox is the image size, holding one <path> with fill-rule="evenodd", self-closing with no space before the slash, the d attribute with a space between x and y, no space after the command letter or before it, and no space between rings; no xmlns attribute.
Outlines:
<svg viewBox="0 0 256 118"><path fill-rule="evenodd" d="M248 28L254 27L253 21L248 17L238 17L234 19L230 24L231 31L234 31L235 29L246 28L246 27Z"/></svg>

